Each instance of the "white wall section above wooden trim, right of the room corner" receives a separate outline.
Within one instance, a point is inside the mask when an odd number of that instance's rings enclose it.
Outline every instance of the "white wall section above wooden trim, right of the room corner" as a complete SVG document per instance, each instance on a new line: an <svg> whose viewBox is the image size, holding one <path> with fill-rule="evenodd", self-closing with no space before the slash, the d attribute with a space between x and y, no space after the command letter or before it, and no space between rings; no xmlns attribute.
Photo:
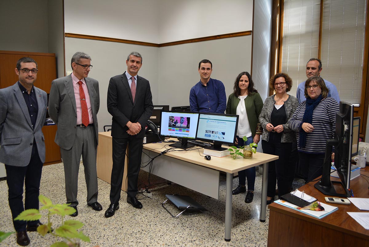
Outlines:
<svg viewBox="0 0 369 247"><path fill-rule="evenodd" d="M252 0L159 0L159 43L252 30Z"/></svg>

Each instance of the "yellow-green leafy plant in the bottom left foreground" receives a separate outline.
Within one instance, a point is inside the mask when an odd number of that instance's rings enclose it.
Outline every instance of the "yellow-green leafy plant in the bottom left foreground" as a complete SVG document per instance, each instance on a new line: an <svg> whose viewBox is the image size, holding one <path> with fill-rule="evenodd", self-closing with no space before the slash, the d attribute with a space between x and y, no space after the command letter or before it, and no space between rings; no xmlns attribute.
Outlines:
<svg viewBox="0 0 369 247"><path fill-rule="evenodd" d="M44 205L41 207L40 210L48 210L48 223L37 227L38 233L42 236L45 236L46 233L50 233L55 237L62 237L68 242L67 244L64 241L57 241L50 247L78 247L79 240L90 242L90 238L83 234L82 231L77 231L77 229L80 229L84 225L82 222L78 220L64 221L64 217L66 215L70 215L76 212L73 207L69 207L69 204L54 205L52 204L50 199L43 195L39 195L38 199ZM52 222L50 221L50 216L52 214L58 214L62 218L61 226L57 227L54 231L51 228ZM39 220L41 219L41 217L42 215L37 209L27 209L20 213L14 220Z"/></svg>

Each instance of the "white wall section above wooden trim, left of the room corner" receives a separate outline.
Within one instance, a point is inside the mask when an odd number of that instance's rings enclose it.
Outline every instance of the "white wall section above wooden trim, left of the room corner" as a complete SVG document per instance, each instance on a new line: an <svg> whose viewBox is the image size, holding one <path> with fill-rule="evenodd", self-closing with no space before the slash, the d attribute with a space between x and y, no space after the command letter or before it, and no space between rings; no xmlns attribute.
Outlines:
<svg viewBox="0 0 369 247"><path fill-rule="evenodd" d="M64 0L65 32L157 44L159 7L151 0Z"/></svg>

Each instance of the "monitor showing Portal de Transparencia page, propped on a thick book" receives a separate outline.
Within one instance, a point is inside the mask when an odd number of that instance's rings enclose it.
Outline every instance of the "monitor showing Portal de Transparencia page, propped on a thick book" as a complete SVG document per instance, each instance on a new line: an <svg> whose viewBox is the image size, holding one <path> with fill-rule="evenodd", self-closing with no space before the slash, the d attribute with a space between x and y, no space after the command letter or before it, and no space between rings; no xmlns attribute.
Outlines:
<svg viewBox="0 0 369 247"><path fill-rule="evenodd" d="M200 112L196 139L212 142L205 149L226 150L222 144L234 144L238 126L238 115Z"/></svg>

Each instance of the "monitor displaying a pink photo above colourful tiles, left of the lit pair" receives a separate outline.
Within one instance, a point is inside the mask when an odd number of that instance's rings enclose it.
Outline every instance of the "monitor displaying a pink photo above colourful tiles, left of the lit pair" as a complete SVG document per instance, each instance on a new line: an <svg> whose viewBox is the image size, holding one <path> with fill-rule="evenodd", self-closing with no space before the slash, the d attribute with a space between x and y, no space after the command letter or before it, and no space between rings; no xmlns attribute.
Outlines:
<svg viewBox="0 0 369 247"><path fill-rule="evenodd" d="M187 143L187 139L195 139L199 113L183 111L162 111L160 117L160 135L181 138L180 143L173 143L172 147L187 149L194 145Z"/></svg>

